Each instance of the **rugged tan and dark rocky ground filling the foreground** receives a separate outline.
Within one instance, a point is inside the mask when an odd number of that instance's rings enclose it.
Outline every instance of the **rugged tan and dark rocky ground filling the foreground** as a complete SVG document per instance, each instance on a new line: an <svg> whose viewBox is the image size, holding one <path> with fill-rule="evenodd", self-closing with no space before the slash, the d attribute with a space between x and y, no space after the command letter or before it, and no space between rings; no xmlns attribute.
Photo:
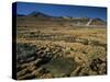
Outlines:
<svg viewBox="0 0 110 82"><path fill-rule="evenodd" d="M73 43L72 43L73 44ZM107 73L106 50L75 43L18 44L18 79L48 79Z"/></svg>

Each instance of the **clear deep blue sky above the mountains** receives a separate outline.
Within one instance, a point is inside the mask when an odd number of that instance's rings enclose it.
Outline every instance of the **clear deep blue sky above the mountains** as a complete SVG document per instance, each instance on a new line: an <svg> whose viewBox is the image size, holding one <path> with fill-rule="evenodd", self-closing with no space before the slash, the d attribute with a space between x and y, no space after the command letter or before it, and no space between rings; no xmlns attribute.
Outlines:
<svg viewBox="0 0 110 82"><path fill-rule="evenodd" d="M99 17L107 20L107 8L84 7L84 5L65 5L65 4L45 4L18 2L18 14L30 14L33 11L42 12L52 16L70 16L70 17Z"/></svg>

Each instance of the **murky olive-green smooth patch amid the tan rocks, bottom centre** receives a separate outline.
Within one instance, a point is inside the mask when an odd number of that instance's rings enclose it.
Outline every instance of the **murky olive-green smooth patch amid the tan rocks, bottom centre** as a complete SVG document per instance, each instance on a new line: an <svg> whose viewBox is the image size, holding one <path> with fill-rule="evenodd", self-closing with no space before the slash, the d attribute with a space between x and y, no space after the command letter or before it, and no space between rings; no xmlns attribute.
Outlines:
<svg viewBox="0 0 110 82"><path fill-rule="evenodd" d="M54 77L63 77L69 75L69 73L74 69L76 69L76 62L72 58L59 57L53 59L43 67L48 70Z"/></svg>

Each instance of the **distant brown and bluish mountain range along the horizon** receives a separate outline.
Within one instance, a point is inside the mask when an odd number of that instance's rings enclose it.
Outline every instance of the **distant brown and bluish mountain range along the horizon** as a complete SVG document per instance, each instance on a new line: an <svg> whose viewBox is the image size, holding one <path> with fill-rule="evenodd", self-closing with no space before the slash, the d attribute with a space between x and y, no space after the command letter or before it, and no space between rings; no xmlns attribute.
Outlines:
<svg viewBox="0 0 110 82"><path fill-rule="evenodd" d="M41 23L44 25L50 24L51 26L57 24L63 26L106 26L107 23L99 19L90 19L90 17L72 17L72 16L52 16L42 12L32 12L28 15L18 14L18 23L26 24L26 25L40 25ZM50 22L50 23L48 23ZM40 24L38 24L40 23Z"/></svg>

